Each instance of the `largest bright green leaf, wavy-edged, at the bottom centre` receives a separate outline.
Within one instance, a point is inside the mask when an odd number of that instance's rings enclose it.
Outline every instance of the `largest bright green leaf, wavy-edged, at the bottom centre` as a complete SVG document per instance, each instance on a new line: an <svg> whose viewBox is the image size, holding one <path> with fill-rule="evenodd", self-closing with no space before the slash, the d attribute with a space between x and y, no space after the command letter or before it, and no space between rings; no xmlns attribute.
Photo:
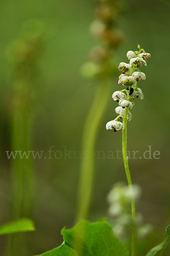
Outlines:
<svg viewBox="0 0 170 256"><path fill-rule="evenodd" d="M106 221L90 223L82 220L75 227L62 229L66 244L79 256L128 256L128 251Z"/></svg>

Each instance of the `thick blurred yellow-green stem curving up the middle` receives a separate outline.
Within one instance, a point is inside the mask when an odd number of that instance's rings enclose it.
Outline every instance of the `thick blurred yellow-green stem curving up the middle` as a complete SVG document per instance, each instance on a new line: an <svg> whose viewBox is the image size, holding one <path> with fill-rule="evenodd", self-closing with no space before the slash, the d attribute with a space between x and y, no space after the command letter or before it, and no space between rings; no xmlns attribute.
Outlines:
<svg viewBox="0 0 170 256"><path fill-rule="evenodd" d="M94 148L97 132L110 96L110 82L104 80L96 89L96 96L85 122L82 137L82 162L80 167L76 222L88 218L94 179ZM85 155L88 155L85 157Z"/></svg>

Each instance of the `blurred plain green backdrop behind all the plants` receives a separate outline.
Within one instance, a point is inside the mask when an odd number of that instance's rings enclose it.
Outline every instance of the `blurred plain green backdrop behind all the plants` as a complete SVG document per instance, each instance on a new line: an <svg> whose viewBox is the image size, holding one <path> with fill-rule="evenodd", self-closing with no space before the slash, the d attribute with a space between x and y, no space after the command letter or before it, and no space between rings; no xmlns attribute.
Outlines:
<svg viewBox="0 0 170 256"><path fill-rule="evenodd" d="M88 32L94 6L92 0L0 1L0 224L9 220L11 202L11 161L6 155L6 150L11 150L8 113L11 66L5 50L28 19L43 20L54 30L53 37L45 43L34 84L37 93L33 150L45 151L48 156L49 148L54 146L54 151L75 151L78 158L34 160L32 218L37 230L27 235L30 246L25 256L56 247L62 241L62 227L74 224L81 137L97 86L93 81L85 81L79 73L89 49L97 44ZM163 239L165 226L170 224L170 5L166 1L130 0L124 9L118 25L125 33L125 42L118 49L117 64L127 61L127 50L136 50L137 43L152 55L148 67L142 70L147 76L140 85L144 100L136 102L133 119L128 123L128 150L143 154L151 145L152 152L161 153L159 160L139 157L130 160L133 183L142 187L137 211L143 214L144 222L155 227L143 249L146 253ZM114 90L119 90L117 77L111 94ZM115 107L110 98L99 126L96 151L121 150L121 132L113 134L105 129L105 123L115 115ZM107 215L106 195L119 180L126 181L122 159L96 157L92 221ZM0 254L5 246L6 237L1 237ZM169 255L168 250L164 255Z"/></svg>

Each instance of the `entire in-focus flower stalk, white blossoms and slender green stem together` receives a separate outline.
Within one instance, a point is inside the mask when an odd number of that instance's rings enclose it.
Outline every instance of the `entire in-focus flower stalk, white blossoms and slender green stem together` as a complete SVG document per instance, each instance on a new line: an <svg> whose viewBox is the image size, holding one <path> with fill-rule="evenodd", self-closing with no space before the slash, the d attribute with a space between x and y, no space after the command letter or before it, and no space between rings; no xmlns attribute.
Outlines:
<svg viewBox="0 0 170 256"><path fill-rule="evenodd" d="M115 111L118 116L109 121L106 124L106 129L110 129L115 132L122 129L122 156L125 166L125 173L127 177L127 183L129 190L133 193L133 184L130 176L130 170L128 165L128 156L127 156L127 120L131 120L132 115L129 109L132 109L134 102L131 102L131 99L143 99L144 95L142 90L138 87L138 82L140 80L145 80L146 75L141 72L139 69L142 67L142 64L147 66L148 58L151 57L150 53L141 49L138 45L139 51L128 51L127 58L129 63L121 62L119 64L119 70L122 71L122 74L119 76L118 84L120 86L125 86L126 88L121 91L116 91L113 93L112 98L114 101L119 103L119 107L116 107ZM118 121L118 119L123 120L123 122ZM136 220L136 209L135 209L135 196L133 195L131 199L131 215L132 215L132 227L131 227L131 256L135 256L135 243L136 243L136 232L135 232L135 220Z"/></svg>

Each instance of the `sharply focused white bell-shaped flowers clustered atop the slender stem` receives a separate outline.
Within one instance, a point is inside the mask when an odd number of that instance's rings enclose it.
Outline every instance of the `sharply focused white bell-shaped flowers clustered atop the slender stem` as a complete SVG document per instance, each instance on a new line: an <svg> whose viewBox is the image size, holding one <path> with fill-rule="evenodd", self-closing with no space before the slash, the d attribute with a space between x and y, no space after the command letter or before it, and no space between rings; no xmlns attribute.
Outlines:
<svg viewBox="0 0 170 256"><path fill-rule="evenodd" d="M138 81L145 80L146 75L141 72L139 69L142 67L142 64L147 66L148 58L151 57L150 53L141 49L138 45L139 51L128 51L127 58L129 63L121 62L119 64L119 70L122 71L122 74L119 76L118 84L120 86L125 86L126 88L120 91L113 93L112 98L114 101L119 102L119 107L116 107L115 111L118 116L109 121L106 124L106 129L113 129L114 131L119 131L124 129L125 126L122 122L119 122L119 118L124 118L125 109L128 108L127 119L130 121L132 119L132 114L129 109L133 108L134 103L131 102L131 99L143 99L144 95L142 90L138 87Z"/></svg>

